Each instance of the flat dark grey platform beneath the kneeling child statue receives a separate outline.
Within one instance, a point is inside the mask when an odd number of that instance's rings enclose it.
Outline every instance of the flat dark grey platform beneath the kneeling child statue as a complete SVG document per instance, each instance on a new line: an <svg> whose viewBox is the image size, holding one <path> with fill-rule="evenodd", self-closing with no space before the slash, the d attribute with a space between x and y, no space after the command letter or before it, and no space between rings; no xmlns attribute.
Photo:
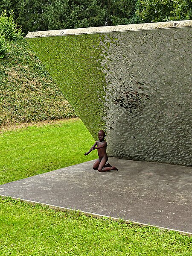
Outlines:
<svg viewBox="0 0 192 256"><path fill-rule="evenodd" d="M0 185L0 195L192 233L192 168L109 158Z"/></svg>

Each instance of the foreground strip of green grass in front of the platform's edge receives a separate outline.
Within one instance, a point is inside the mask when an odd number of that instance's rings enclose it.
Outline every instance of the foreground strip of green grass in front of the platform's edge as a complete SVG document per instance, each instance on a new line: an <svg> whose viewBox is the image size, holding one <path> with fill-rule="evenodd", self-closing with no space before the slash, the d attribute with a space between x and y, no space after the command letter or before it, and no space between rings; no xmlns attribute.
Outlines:
<svg viewBox="0 0 192 256"><path fill-rule="evenodd" d="M0 251L11 256L189 256L191 238L0 198Z"/></svg>

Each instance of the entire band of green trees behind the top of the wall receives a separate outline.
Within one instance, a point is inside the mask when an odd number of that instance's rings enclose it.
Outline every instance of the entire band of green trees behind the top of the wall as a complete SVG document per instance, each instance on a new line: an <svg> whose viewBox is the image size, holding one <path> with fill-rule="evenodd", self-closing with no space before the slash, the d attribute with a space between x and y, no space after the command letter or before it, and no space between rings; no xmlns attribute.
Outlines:
<svg viewBox="0 0 192 256"><path fill-rule="evenodd" d="M192 0L1 0L23 32L192 19Z"/></svg>

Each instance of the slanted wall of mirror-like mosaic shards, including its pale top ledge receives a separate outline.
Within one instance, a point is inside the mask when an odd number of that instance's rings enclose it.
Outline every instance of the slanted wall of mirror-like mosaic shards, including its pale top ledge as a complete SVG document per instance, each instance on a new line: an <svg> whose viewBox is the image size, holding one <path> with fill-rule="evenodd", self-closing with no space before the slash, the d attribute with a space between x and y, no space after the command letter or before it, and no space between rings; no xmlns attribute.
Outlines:
<svg viewBox="0 0 192 256"><path fill-rule="evenodd" d="M29 32L26 38L108 154L192 165L192 21Z"/></svg>

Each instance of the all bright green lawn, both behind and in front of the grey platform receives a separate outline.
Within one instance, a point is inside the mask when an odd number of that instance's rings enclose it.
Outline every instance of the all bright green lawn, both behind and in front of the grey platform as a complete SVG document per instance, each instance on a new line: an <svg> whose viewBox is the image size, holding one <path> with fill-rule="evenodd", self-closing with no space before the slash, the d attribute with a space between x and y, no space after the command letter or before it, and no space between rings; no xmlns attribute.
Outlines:
<svg viewBox="0 0 192 256"><path fill-rule="evenodd" d="M95 159L80 120L0 134L1 183ZM96 219L0 197L2 256L190 256L192 238L153 227Z"/></svg>

